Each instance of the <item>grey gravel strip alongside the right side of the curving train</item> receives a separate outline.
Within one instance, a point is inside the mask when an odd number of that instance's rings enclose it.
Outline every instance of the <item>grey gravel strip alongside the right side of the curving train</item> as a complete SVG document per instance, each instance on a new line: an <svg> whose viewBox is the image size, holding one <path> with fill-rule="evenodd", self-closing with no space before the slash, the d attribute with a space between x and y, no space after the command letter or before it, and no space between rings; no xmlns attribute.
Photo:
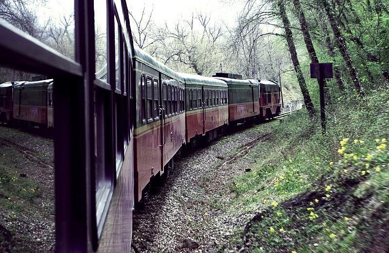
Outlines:
<svg viewBox="0 0 389 253"><path fill-rule="evenodd" d="M182 152L166 182L135 210L134 251L215 252L238 238L254 214L231 207L230 180L248 169L240 166L245 156L233 157L256 145L269 131L268 124L240 126L239 132L205 148Z"/></svg>

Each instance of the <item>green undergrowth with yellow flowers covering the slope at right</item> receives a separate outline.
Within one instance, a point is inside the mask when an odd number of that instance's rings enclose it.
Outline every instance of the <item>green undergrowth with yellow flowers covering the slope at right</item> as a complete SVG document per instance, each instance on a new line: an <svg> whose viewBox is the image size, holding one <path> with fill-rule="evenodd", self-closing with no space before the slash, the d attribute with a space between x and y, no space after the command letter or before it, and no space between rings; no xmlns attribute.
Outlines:
<svg viewBox="0 0 389 253"><path fill-rule="evenodd" d="M389 90L334 99L327 133L305 110L272 125L233 179L235 205L254 212L249 252L388 252Z"/></svg>

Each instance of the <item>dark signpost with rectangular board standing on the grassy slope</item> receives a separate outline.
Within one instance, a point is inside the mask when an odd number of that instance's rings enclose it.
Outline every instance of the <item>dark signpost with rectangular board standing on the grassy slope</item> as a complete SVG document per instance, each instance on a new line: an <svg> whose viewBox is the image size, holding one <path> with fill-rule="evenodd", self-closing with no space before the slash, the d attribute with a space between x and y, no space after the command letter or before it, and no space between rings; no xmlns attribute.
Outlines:
<svg viewBox="0 0 389 253"><path fill-rule="evenodd" d="M311 78L317 78L320 93L321 134L325 135L324 79L333 78L332 63L311 63Z"/></svg>

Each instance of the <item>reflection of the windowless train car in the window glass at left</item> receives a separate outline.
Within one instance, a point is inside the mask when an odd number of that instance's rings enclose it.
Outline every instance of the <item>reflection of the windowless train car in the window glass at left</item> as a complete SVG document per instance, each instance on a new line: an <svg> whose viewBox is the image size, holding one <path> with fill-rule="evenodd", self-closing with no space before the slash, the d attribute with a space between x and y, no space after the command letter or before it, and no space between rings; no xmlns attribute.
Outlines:
<svg viewBox="0 0 389 253"><path fill-rule="evenodd" d="M47 126L47 88L52 83L49 79L15 85L14 118Z"/></svg>

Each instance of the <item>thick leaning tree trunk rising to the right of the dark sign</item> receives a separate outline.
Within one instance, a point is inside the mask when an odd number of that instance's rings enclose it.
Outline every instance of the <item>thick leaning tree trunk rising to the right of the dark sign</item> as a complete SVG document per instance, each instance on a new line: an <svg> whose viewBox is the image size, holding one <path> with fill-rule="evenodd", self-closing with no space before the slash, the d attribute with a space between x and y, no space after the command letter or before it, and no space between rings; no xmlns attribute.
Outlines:
<svg viewBox="0 0 389 253"><path fill-rule="evenodd" d="M336 23L336 20L334 17L334 13L330 9L330 6L329 6L327 0L321 0L321 5L325 9L325 12L326 12L327 17L328 17L328 21L330 22L331 28L334 32L336 46L337 46L338 50L340 51L340 54L342 55L343 60L345 61L347 68L349 69L349 73L351 75L351 78L353 79L355 89L358 92L358 94L360 94L361 96L364 96L362 84L361 84L361 82L359 80L359 76L358 76L358 71L354 67L353 60L351 59L349 52L347 50L346 40L344 39L343 35L339 31L339 28L337 26L337 23Z"/></svg>

